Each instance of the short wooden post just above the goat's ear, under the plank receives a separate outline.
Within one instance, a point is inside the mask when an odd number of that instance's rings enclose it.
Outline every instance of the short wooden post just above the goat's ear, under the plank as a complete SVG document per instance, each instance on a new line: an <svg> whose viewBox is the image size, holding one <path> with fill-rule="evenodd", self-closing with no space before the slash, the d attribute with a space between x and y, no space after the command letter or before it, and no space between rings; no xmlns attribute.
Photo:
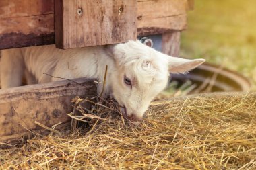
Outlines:
<svg viewBox="0 0 256 170"><path fill-rule="evenodd" d="M162 52L170 56L179 56L181 32L162 34Z"/></svg>

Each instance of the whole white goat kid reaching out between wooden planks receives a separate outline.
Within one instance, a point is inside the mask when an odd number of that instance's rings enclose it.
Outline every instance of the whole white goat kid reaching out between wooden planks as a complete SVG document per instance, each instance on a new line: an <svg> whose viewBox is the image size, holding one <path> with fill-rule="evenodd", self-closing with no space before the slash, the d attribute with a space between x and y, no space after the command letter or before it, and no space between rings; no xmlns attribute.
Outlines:
<svg viewBox="0 0 256 170"><path fill-rule="evenodd" d="M69 50L54 45L16 48L2 51L1 87L20 86L24 73L28 84L59 80L49 75L102 82L108 65L104 96L112 95L123 106L125 116L139 120L168 84L169 73L185 73L204 61L168 56L139 41ZM102 83L98 93L101 90Z"/></svg>

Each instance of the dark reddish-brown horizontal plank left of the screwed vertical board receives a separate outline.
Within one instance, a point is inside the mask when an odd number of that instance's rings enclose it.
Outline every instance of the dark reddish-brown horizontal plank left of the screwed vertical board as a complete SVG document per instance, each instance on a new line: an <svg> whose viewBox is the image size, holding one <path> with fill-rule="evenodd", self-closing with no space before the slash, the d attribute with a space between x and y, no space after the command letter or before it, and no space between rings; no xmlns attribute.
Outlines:
<svg viewBox="0 0 256 170"><path fill-rule="evenodd" d="M55 44L53 0L1 0L0 49Z"/></svg>

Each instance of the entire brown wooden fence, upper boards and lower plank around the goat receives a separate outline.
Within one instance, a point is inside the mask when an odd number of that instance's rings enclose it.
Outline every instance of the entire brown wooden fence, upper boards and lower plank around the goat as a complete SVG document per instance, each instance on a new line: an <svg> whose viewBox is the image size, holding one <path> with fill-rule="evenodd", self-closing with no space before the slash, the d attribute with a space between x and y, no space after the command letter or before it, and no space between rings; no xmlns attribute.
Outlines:
<svg viewBox="0 0 256 170"><path fill-rule="evenodd" d="M1 0L0 50L46 44L79 48L162 34L162 52L178 56L192 7L193 0ZM0 142L35 130L34 121L46 126L68 121L71 98L95 94L92 83L79 82L85 86L63 81L1 90Z"/></svg>

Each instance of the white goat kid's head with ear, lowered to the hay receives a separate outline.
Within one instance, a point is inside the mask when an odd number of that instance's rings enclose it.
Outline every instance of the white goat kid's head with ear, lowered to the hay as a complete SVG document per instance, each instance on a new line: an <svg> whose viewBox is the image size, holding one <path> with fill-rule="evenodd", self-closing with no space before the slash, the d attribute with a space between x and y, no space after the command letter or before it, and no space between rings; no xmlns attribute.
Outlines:
<svg viewBox="0 0 256 170"><path fill-rule="evenodd" d="M186 73L204 59L187 60L162 54L139 41L110 46L116 68L110 76L112 95L130 120L140 120L150 102L168 84L170 73Z"/></svg>

